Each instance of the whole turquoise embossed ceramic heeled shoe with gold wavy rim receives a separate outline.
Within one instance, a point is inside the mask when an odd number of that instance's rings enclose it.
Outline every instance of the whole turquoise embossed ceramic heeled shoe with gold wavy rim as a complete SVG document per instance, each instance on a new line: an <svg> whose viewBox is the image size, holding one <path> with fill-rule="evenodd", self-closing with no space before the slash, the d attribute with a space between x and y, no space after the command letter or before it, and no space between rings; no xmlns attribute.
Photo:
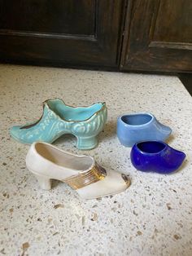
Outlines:
<svg viewBox="0 0 192 256"><path fill-rule="evenodd" d="M97 146L97 135L103 130L106 120L105 103L73 108L61 99L48 99L43 103L39 121L26 126L13 126L10 133L20 143L53 143L61 135L72 134L77 138L77 148L91 149Z"/></svg>

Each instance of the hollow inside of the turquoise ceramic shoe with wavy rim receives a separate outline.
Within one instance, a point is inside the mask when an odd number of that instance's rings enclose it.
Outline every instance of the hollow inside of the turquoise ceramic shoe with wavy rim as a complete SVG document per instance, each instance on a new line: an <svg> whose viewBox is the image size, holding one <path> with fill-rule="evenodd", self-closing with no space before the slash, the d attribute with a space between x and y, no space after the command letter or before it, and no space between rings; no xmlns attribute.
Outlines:
<svg viewBox="0 0 192 256"><path fill-rule="evenodd" d="M60 99L49 100L47 104L50 109L66 121L85 121L103 108L102 103L97 103L89 107L73 108L63 104L63 101Z"/></svg>

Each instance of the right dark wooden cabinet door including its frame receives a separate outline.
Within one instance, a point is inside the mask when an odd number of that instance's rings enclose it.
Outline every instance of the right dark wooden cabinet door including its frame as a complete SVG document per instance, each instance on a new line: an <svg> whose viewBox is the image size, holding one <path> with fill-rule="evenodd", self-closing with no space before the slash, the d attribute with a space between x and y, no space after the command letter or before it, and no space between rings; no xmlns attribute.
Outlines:
<svg viewBox="0 0 192 256"><path fill-rule="evenodd" d="M128 3L120 68L192 72L192 1Z"/></svg>

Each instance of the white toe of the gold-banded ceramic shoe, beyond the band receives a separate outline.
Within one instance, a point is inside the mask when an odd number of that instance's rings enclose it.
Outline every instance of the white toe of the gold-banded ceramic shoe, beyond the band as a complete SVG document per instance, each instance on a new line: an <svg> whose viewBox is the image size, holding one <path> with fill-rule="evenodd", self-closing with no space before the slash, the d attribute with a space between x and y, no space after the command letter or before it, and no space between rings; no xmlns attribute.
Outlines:
<svg viewBox="0 0 192 256"><path fill-rule="evenodd" d="M130 183L128 175L111 170L107 171L105 179L77 189L76 192L85 199L94 199L123 192L126 188L129 188Z"/></svg>

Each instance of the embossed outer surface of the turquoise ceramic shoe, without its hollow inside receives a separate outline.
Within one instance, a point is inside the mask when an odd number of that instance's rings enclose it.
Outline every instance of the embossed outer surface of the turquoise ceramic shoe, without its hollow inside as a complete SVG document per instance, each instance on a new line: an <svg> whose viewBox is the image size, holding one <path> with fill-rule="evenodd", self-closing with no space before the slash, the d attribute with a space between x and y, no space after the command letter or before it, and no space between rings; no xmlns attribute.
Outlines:
<svg viewBox="0 0 192 256"><path fill-rule="evenodd" d="M49 108L48 104L44 104L43 115L37 123L29 126L13 126L11 128L11 135L21 143L33 143L34 141L52 143L61 135L72 134L81 143L81 137L84 139L89 138L89 147L91 148L95 146L95 136L103 130L106 121L107 107L105 104L100 111L94 113L94 115L85 121L63 120ZM90 143L90 138L95 140L94 143ZM81 148L81 144L77 144L77 146Z"/></svg>

